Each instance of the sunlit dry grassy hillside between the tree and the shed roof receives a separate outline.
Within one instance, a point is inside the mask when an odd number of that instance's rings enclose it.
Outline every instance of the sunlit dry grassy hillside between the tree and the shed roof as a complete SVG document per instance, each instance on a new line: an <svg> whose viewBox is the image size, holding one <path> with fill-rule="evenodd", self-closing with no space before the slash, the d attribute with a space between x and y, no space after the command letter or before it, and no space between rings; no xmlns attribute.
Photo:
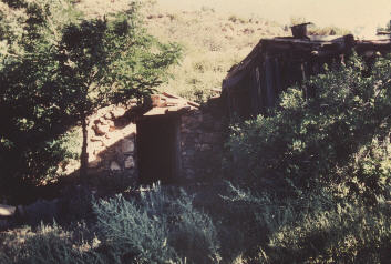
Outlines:
<svg viewBox="0 0 391 264"><path fill-rule="evenodd" d="M128 1L80 0L88 16L125 9ZM282 27L258 17L239 17L203 7L193 11L173 11L147 1L142 9L147 31L162 41L183 47L182 63L171 69L172 80L160 90L204 101L220 89L229 68L244 59L260 38L285 35Z"/></svg>

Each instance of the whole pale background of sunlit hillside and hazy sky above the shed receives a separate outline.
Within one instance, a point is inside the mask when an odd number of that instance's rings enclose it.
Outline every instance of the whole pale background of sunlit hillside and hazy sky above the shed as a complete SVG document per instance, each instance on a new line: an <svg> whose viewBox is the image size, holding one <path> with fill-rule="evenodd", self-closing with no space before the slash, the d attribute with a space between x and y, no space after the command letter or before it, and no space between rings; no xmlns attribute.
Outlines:
<svg viewBox="0 0 391 264"><path fill-rule="evenodd" d="M128 0L78 1L88 16L123 10L128 3ZM370 6L354 1L354 9L352 3L350 0L343 3L335 0L327 3L308 0L143 1L142 14L148 32L184 48L182 63L171 69L173 79L158 90L202 102L214 94L214 89L220 89L230 67L244 59L259 39L290 35L292 23L312 21L321 27L310 29L316 34L333 30L336 34L371 35L390 18L389 1L377 0Z"/></svg>

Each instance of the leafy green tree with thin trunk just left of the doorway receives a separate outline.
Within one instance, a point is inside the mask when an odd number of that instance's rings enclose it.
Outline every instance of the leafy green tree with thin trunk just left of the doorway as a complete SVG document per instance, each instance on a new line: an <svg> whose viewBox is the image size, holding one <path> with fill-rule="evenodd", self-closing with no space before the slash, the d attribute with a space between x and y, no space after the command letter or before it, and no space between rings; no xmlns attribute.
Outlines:
<svg viewBox="0 0 391 264"><path fill-rule="evenodd" d="M113 18L66 26L58 47L59 75L83 130L81 177L88 167L86 118L109 104L148 95L179 55L176 44L162 44L140 29L132 7Z"/></svg>

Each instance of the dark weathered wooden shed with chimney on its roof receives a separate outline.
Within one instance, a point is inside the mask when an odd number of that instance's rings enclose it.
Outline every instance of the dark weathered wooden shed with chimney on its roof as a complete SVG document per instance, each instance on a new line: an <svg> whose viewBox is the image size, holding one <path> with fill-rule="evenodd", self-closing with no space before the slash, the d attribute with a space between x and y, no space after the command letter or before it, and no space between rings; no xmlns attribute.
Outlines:
<svg viewBox="0 0 391 264"><path fill-rule="evenodd" d="M391 51L389 35L377 40L343 37L307 37L306 24L292 27L294 37L261 39L234 65L223 81L222 97L230 116L264 114L288 87L322 71L323 64L341 63L353 50L371 60ZM297 28L298 27L298 28ZM305 91L310 95L311 91Z"/></svg>

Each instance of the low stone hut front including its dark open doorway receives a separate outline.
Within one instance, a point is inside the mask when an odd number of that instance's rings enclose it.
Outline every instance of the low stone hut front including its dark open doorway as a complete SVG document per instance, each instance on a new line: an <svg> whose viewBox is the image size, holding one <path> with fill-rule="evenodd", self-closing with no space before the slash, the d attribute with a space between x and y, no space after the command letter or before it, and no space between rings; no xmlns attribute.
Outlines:
<svg viewBox="0 0 391 264"><path fill-rule="evenodd" d="M192 184L216 179L225 128L219 101L210 100L202 109L167 109L111 105L89 118L90 189L105 195L156 181ZM59 173L64 176L38 187L33 196L55 199L80 184L79 167L79 161L61 164Z"/></svg>

